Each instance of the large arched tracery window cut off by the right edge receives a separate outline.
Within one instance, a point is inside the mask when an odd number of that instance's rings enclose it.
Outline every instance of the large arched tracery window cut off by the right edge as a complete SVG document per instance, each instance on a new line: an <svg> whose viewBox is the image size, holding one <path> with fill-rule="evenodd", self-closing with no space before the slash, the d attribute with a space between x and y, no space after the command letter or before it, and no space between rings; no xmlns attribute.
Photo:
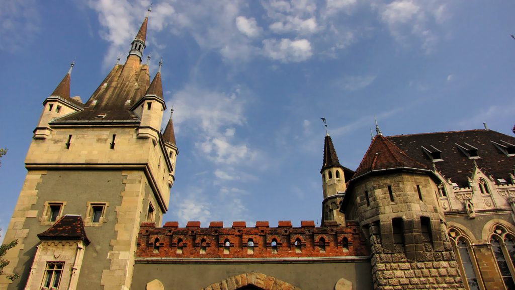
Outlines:
<svg viewBox="0 0 515 290"><path fill-rule="evenodd" d="M510 268L514 270L515 266L515 236L507 233L501 225L497 225L490 238L490 244L506 289L515 289L515 277L510 271Z"/></svg>

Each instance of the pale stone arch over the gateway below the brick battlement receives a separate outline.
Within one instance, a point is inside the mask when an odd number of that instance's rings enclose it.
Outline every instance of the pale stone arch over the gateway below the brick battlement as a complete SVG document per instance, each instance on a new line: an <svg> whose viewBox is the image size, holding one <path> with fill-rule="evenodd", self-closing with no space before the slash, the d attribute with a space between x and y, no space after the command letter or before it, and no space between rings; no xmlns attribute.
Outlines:
<svg viewBox="0 0 515 290"><path fill-rule="evenodd" d="M255 286L263 290L300 290L299 287L276 279L272 276L267 276L263 273L256 272L243 273L240 275L232 276L226 280L204 287L202 290L237 290L245 286Z"/></svg>

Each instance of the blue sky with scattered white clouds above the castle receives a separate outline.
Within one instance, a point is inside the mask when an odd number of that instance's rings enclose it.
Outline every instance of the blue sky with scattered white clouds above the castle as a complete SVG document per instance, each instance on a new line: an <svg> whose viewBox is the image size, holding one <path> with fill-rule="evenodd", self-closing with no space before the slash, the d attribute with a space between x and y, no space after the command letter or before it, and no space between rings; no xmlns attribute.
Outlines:
<svg viewBox="0 0 515 290"><path fill-rule="evenodd" d="M0 228L42 102L74 59L71 94L88 100L125 60L149 5L0 0ZM511 0L154 1L144 58L151 77L163 58L179 148L164 221L319 224L322 117L351 169L374 116L384 135L486 122L512 136L513 11Z"/></svg>

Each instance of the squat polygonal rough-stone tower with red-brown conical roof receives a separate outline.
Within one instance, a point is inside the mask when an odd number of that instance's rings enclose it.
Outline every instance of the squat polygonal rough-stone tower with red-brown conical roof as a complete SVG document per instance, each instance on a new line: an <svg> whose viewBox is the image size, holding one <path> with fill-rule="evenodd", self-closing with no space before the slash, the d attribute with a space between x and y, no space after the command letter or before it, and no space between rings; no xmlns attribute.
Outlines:
<svg viewBox="0 0 515 290"><path fill-rule="evenodd" d="M386 137L373 138L342 208L369 239L374 289L464 289L436 182Z"/></svg>

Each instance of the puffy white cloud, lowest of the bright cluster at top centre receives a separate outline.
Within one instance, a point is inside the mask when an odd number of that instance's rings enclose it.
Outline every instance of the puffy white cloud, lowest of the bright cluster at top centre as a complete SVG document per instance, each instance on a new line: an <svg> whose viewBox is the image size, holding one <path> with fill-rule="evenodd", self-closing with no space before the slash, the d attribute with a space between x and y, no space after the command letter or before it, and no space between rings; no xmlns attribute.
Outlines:
<svg viewBox="0 0 515 290"><path fill-rule="evenodd" d="M265 39L263 40L263 45L263 53L265 56L282 62L305 61L313 55L311 43L307 39L294 41L286 38L280 41L276 39Z"/></svg>

